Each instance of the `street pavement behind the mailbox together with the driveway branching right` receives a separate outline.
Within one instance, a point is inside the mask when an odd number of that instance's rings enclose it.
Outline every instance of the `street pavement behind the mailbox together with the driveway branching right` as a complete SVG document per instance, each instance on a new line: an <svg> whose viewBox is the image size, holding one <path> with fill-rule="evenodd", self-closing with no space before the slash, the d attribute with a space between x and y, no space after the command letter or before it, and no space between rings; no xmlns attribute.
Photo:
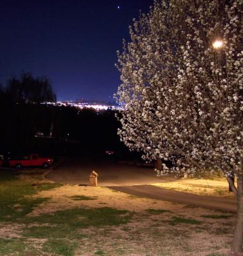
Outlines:
<svg viewBox="0 0 243 256"><path fill-rule="evenodd" d="M226 212L236 212L237 202L234 199L214 196L200 196L193 193L158 188L149 184L175 180L173 177L156 177L151 168L112 163L107 159L70 159L59 168L50 170L47 179L66 184L89 185L89 174L98 172L98 185L107 186L130 195L145 196L168 202L195 205Z"/></svg>

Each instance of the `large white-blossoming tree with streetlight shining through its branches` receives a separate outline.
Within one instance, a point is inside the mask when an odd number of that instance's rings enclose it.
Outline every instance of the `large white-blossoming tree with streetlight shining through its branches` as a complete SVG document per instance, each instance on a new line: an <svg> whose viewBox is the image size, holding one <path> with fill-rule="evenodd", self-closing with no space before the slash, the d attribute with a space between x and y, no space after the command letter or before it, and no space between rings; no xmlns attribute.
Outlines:
<svg viewBox="0 0 243 256"><path fill-rule="evenodd" d="M144 159L174 163L159 174L225 174L238 201L236 255L243 241L242 19L242 0L154 1L118 52L116 94L121 140Z"/></svg>

